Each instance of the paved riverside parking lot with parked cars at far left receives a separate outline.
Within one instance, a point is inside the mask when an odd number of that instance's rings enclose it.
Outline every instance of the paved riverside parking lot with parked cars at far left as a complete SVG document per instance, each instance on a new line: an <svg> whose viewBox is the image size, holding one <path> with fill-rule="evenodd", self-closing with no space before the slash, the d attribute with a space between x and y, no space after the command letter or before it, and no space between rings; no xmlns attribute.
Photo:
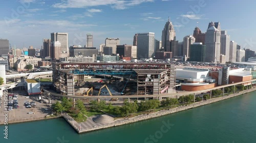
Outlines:
<svg viewBox="0 0 256 143"><path fill-rule="evenodd" d="M47 115L51 115L52 111L46 103L40 103L37 101L36 96L28 97L25 95L25 91L14 91L13 93L18 95L18 108L13 108L6 112L4 108L4 96L2 97L2 106L0 107L0 122L4 121L4 113L8 113L8 122L28 120L28 119L39 119L45 118ZM26 108L25 102L35 102L34 106L31 108ZM47 108L47 109L46 109ZM5 112L4 112L5 111ZM30 113L29 113L30 112Z"/></svg>

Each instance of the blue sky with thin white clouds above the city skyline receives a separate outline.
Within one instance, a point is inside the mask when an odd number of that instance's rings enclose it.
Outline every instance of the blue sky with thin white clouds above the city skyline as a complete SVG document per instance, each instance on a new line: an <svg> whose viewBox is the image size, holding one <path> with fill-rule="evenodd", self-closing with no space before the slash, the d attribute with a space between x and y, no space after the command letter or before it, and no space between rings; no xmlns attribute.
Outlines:
<svg viewBox="0 0 256 143"><path fill-rule="evenodd" d="M179 41L193 34L197 21L202 32L209 21L220 21L230 40L256 50L255 6L254 0L3 0L0 38L18 48L41 48L53 32L69 33L69 45L85 45L87 33L97 48L106 37L132 44L135 33L154 32L161 40L169 16Z"/></svg>

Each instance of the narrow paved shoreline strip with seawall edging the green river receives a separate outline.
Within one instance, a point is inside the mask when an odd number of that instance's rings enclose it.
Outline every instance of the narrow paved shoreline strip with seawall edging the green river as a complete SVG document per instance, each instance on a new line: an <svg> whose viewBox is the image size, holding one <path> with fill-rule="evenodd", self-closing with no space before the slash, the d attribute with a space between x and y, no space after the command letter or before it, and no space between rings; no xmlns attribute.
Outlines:
<svg viewBox="0 0 256 143"><path fill-rule="evenodd" d="M67 115L62 115L62 117L70 124L70 126L73 127L73 129L78 133L87 133L87 132L92 132L92 131L97 131L97 130L102 130L105 128L111 128L111 127L116 127L116 126L121 126L121 125L126 125L126 124L131 124L131 123L135 123L135 122L140 122L140 121L144 121L144 120L149 120L149 119L153 119L153 118L157 118L157 117L161 117L161 116L166 116L172 113L176 113L176 112L180 112L180 111L184 111L187 109L191 109L191 108L196 108L199 106L204 106L207 104L211 104L211 103L215 103L218 101L222 101L225 99L229 99L229 98L233 98L233 97L237 97L246 93L250 93L256 91L256 88L251 88L248 90L244 90L241 92L237 92L237 93L233 93L230 95L226 95L226 96L222 96L222 97L218 97L218 98L212 98L212 99L208 99L206 101L200 101L200 102L196 102L187 106L179 106L173 109L163 109L154 113L149 113L149 114L143 114L143 115L138 115L136 117L133 118L129 118L127 119L117 119L112 123L109 124L105 124L105 125L100 125L100 126L94 126L91 128L84 128L84 129L79 129L80 128L80 124L82 123L77 123L76 121L72 120L72 117L67 116ZM122 121L123 120L123 121Z"/></svg>

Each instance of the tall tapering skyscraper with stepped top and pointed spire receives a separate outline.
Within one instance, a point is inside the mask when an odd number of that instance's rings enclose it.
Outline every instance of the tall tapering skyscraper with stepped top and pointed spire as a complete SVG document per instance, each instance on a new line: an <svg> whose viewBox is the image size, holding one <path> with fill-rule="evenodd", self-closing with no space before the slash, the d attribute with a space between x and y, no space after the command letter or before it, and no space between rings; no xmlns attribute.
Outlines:
<svg viewBox="0 0 256 143"><path fill-rule="evenodd" d="M176 40L176 33L173 23L170 22L170 19L168 18L168 21L165 23L162 31L162 47L165 51L167 51L169 42L172 40Z"/></svg>

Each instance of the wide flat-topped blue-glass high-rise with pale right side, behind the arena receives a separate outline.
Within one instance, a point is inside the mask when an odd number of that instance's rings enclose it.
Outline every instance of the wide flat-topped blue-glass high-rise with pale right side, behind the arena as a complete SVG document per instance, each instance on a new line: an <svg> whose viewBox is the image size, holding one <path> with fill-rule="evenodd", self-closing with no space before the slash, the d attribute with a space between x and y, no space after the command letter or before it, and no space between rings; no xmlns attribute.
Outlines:
<svg viewBox="0 0 256 143"><path fill-rule="evenodd" d="M137 58L153 58L155 52L155 33L138 33Z"/></svg>

